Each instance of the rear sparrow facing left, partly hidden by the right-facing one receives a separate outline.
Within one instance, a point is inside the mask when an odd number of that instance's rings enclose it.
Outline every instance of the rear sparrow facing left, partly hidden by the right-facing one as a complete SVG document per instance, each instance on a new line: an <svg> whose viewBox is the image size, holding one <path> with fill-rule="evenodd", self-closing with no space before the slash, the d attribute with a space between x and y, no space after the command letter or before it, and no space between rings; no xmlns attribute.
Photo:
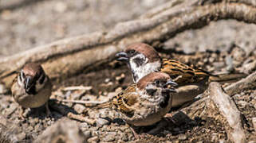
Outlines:
<svg viewBox="0 0 256 143"><path fill-rule="evenodd" d="M124 52L116 53L116 60L128 64L134 83L152 72L165 72L178 86L173 95L172 106L180 106L202 94L211 81L225 81L242 78L244 74L212 75L202 69L191 68L178 60L162 59L156 50L144 43L131 44Z"/></svg>

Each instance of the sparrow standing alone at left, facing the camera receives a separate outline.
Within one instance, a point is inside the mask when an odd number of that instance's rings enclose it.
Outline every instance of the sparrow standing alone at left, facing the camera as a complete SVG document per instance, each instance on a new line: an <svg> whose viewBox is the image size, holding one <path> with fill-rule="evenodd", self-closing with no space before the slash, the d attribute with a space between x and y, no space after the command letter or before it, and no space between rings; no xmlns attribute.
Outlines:
<svg viewBox="0 0 256 143"><path fill-rule="evenodd" d="M40 64L26 64L18 73L11 87L15 102L25 108L37 108L45 105L46 114L50 114L48 100L52 92L52 83Z"/></svg>

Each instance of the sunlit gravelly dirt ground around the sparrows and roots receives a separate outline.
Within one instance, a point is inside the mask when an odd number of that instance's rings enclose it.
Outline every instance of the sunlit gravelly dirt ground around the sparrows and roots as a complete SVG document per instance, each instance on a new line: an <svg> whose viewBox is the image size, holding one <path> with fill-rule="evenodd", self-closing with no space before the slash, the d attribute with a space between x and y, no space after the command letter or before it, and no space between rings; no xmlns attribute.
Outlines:
<svg viewBox="0 0 256 143"><path fill-rule="evenodd" d="M26 4L22 4L25 2ZM147 10L165 1L82 1L61 0L2 0L0 1L0 57L13 55L41 44L47 44L65 37L92 33L111 28L116 22L144 14ZM25 17L26 15L26 17ZM227 20L212 22L202 29L191 29L179 33L163 47L156 49L161 56L180 60L185 64L203 68L212 73L246 72L255 68L246 65L256 60L256 25ZM156 126L138 128L142 136L138 141L130 127L122 121L114 110L91 110L81 104L58 102L56 99L79 99L103 101L116 95L132 83L126 65L116 61L100 65L91 72L81 72L65 80L54 81L53 95L49 102L52 117L45 117L43 109L26 110L27 118L18 117L18 104L10 94L0 96L0 111L10 121L24 130L23 140L31 142L57 120L66 116L56 110L56 106L74 114L83 114L96 121L94 125L78 122L79 128L89 138L89 142L230 142L221 122L203 116L192 118L179 126L168 122L156 134L147 132ZM224 86L228 85L226 83ZM88 91L65 91L65 87L92 87ZM246 139L256 141L256 91L249 89L234 95L232 99L246 118ZM172 110L175 114L179 109Z"/></svg>

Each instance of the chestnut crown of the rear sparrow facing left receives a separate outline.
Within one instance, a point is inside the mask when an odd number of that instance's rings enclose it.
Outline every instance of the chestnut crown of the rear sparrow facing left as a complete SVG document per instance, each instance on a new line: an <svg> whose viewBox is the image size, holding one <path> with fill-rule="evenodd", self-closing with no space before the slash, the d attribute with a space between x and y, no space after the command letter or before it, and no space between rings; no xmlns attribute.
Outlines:
<svg viewBox="0 0 256 143"><path fill-rule="evenodd" d="M144 43L135 43L135 44L129 45L126 48L125 52L128 52L130 50L135 50L136 52L140 52L144 54L144 56L148 58L149 62L155 62L160 60L160 56L158 52L156 52L156 50L151 45L144 44Z"/></svg>

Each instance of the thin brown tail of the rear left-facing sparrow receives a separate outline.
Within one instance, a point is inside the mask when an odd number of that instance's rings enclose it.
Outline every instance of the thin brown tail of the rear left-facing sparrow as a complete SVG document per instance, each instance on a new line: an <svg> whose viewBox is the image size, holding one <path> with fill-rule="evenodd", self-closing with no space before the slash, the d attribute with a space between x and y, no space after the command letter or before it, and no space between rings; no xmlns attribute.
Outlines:
<svg viewBox="0 0 256 143"><path fill-rule="evenodd" d="M211 75L209 79L211 82L232 82L245 78L246 76L247 75L244 73L225 73L219 75Z"/></svg>

